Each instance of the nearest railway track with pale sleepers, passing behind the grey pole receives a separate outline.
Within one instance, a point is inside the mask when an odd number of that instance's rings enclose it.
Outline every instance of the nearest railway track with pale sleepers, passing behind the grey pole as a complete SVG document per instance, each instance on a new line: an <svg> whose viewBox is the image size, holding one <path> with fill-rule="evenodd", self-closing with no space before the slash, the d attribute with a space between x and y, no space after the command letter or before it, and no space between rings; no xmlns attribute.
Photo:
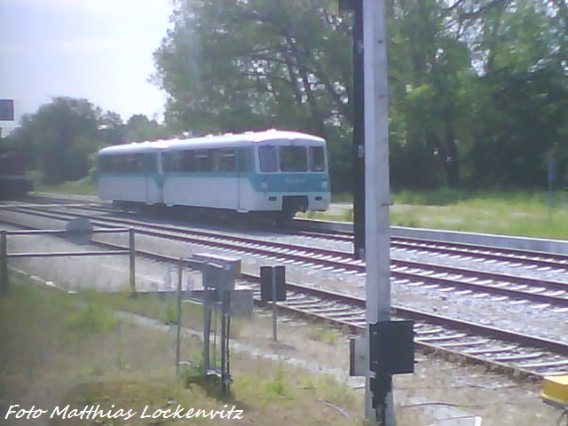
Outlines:
<svg viewBox="0 0 568 426"><path fill-rule="evenodd" d="M98 242L108 249L123 249L116 244ZM178 258L137 249L144 256L170 264ZM255 303L260 300L260 277L242 274L241 278L255 286ZM279 310L304 319L325 321L351 333L365 330L365 300L319 288L287 283L287 301ZM488 369L512 376L540 378L563 374L568 366L568 343L558 343L538 336L519 334L496 327L451 319L394 305L395 319L414 319L414 342L425 352L443 354L449 359L485 365Z"/></svg>

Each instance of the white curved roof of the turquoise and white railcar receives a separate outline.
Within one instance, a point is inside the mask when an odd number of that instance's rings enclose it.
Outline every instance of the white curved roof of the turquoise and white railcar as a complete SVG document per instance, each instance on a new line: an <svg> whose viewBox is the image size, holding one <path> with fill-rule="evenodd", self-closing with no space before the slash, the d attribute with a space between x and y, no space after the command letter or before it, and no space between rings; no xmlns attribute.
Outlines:
<svg viewBox="0 0 568 426"><path fill-rule="evenodd" d="M289 130L248 131L246 133L223 135L207 135L197 138L172 138L154 142L138 142L125 145L108 146L99 151L99 155L113 154L139 154L161 151L164 149L209 148L215 146L241 146L245 144L261 143L271 140L302 139L311 141L315 145L325 144L325 139L307 133Z"/></svg>

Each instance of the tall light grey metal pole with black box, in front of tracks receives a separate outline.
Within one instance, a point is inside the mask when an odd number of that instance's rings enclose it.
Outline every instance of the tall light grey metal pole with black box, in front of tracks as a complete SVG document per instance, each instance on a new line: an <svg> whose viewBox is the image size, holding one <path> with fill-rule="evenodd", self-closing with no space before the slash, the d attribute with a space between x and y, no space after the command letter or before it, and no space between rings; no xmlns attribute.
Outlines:
<svg viewBox="0 0 568 426"><path fill-rule="evenodd" d="M367 323L390 319L389 99L385 0L363 0ZM367 329L367 336L369 335ZM367 371L366 415L394 425L392 393L373 409Z"/></svg>

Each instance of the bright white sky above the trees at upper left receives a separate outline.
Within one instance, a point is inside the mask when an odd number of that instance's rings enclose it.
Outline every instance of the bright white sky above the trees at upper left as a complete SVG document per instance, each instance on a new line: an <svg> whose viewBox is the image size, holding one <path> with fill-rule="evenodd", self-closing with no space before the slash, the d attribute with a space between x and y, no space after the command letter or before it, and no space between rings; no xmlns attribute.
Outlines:
<svg viewBox="0 0 568 426"><path fill-rule="evenodd" d="M162 121L152 53L170 27L169 0L0 0L0 99L15 121L57 96Z"/></svg>

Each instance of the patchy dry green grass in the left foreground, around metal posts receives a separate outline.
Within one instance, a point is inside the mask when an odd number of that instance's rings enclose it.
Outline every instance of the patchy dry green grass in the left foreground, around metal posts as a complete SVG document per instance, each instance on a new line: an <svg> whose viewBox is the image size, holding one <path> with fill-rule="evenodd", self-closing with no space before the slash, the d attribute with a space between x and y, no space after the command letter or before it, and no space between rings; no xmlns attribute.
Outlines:
<svg viewBox="0 0 568 426"><path fill-rule="evenodd" d="M280 361L233 353L234 383L221 392L215 380L205 381L199 368L184 367L179 378L173 366L175 333L140 327L130 322L116 326L112 299L67 294L13 280L0 297L0 411L6 404L104 411L136 411L128 422L121 418L81 421L44 417L51 426L113 424L147 426L171 424L163 417L142 418L177 405L209 410L242 410L231 424L275 426L288 424L361 425L362 396L344 383L311 375ZM147 302L131 299L132 304ZM129 304L130 304L129 302ZM147 309L147 308L145 308ZM185 354L199 353L200 343L183 342ZM331 404L331 405L330 405ZM114 405L114 407L113 407ZM147 413L146 413L147 414ZM3 421L4 422L4 421ZM9 419L8 425L18 425ZM3 423L4 424L4 423ZM227 424L227 420L193 418L175 424Z"/></svg>

